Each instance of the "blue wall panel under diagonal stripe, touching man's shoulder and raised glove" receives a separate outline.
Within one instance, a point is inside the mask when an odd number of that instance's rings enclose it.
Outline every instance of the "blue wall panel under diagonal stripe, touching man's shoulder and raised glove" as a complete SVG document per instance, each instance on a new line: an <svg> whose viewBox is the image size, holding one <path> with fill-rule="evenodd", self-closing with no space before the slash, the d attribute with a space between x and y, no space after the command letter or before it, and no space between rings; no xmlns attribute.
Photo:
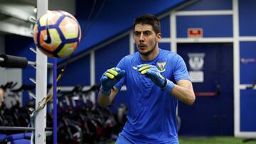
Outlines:
<svg viewBox="0 0 256 144"><path fill-rule="evenodd" d="M129 35L117 40L110 45L95 51L95 77L97 83L100 83L100 77L103 72L112 67L124 57L129 55Z"/></svg>

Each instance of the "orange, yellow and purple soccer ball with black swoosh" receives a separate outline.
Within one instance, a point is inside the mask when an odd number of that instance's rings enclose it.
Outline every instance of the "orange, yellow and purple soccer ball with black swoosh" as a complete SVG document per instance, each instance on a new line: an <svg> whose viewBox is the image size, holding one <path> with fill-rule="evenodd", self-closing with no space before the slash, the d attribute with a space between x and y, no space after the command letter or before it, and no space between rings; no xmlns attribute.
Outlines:
<svg viewBox="0 0 256 144"><path fill-rule="evenodd" d="M78 21L65 11L48 11L41 16L34 27L36 46L49 57L68 57L81 40Z"/></svg>

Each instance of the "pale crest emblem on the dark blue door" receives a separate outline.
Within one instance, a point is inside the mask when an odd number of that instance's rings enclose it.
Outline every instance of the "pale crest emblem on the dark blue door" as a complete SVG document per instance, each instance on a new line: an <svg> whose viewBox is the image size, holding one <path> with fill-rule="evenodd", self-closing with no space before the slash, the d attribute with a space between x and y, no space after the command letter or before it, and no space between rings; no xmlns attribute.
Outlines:
<svg viewBox="0 0 256 144"><path fill-rule="evenodd" d="M202 70L203 69L203 57L205 57L205 53L188 53L188 64L191 70Z"/></svg>

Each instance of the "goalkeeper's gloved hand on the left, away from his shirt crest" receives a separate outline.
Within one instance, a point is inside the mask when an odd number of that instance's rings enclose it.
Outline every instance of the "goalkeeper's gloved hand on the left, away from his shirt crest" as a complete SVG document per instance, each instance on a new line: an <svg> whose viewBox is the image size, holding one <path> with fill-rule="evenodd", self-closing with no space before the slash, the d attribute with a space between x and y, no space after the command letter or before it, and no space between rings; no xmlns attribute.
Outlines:
<svg viewBox="0 0 256 144"><path fill-rule="evenodd" d="M110 95L112 87L114 84L117 84L122 77L124 77L125 71L120 70L117 67L113 67L112 69L107 70L102 74L100 78L101 87L100 92L105 95Z"/></svg>

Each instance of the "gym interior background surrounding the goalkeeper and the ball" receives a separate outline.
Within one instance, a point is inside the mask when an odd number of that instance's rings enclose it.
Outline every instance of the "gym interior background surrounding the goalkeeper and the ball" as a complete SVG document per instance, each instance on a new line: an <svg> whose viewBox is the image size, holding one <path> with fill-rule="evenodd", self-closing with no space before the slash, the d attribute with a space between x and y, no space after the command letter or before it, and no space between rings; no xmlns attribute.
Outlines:
<svg viewBox="0 0 256 144"><path fill-rule="evenodd" d="M255 0L1 0L0 143L114 143L127 121L129 92L123 86L102 108L100 78L138 52L133 21L144 13L159 18L159 48L183 58L193 84L194 104L178 102L179 143L256 143L255 6ZM47 10L67 11L80 25L69 57L37 50L35 23ZM4 66L12 56L26 65ZM55 100L35 113L49 91Z"/></svg>

